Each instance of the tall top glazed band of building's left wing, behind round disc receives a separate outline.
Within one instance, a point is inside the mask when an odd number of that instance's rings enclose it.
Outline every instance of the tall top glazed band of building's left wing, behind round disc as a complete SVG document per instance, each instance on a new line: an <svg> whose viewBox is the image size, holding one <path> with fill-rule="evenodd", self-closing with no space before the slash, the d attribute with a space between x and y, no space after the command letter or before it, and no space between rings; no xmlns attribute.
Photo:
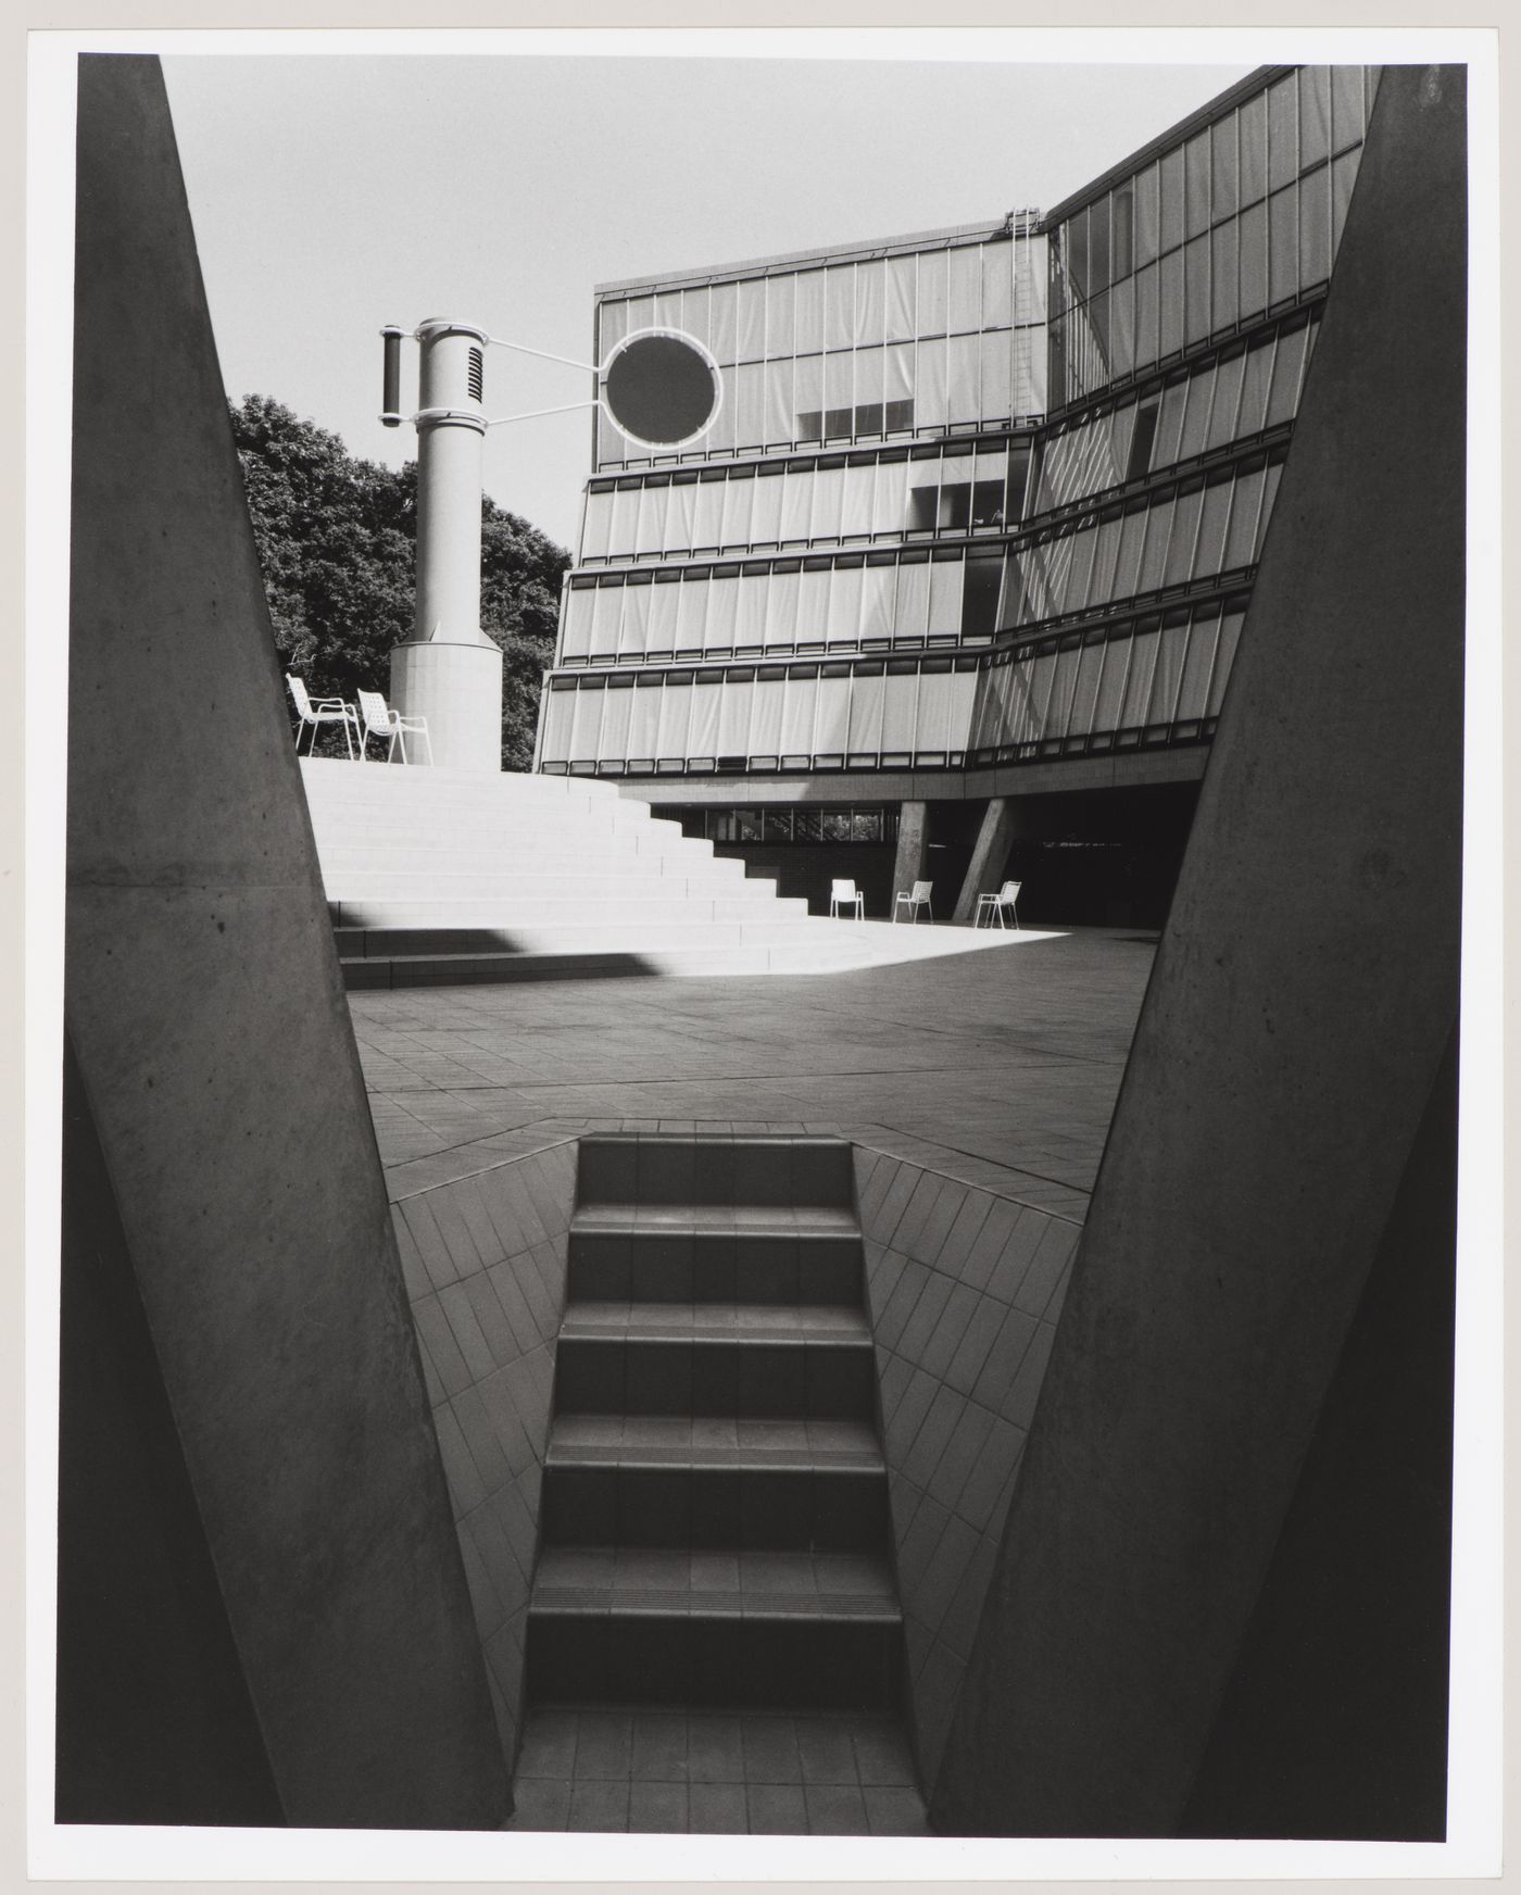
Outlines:
<svg viewBox="0 0 1521 1895"><path fill-rule="evenodd" d="M680 328L712 351L718 419L663 460L972 428L1044 413L1046 290L1046 239L1015 220L1013 235L608 294L597 358L646 328ZM599 468L652 459L599 415Z"/></svg>

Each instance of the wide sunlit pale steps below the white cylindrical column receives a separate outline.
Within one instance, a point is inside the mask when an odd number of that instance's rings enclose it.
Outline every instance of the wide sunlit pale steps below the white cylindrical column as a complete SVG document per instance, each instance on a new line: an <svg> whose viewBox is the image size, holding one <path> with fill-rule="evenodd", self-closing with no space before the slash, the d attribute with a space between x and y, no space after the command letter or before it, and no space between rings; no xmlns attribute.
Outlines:
<svg viewBox="0 0 1521 1895"><path fill-rule="evenodd" d="M610 783L330 758L301 779L349 987L877 959Z"/></svg>

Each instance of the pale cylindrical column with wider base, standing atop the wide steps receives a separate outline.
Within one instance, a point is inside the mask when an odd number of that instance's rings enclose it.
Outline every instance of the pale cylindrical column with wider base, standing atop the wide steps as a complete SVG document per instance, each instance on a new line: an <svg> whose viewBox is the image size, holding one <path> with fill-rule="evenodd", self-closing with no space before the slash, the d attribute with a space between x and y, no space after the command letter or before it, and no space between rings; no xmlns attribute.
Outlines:
<svg viewBox="0 0 1521 1895"><path fill-rule="evenodd" d="M390 654L390 701L403 716L426 716L436 764L498 771L502 654L481 631L487 335L438 316L417 334L417 614L415 639ZM426 764L428 749L409 743L407 758Z"/></svg>

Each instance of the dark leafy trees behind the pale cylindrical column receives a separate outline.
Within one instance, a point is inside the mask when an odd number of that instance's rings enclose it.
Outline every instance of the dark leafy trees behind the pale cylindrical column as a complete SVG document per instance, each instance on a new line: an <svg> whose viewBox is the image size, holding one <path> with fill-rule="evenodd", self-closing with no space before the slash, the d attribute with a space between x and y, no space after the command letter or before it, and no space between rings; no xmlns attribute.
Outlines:
<svg viewBox="0 0 1521 1895"><path fill-rule="evenodd" d="M280 402L233 406L233 440L275 644L314 697L386 690L392 646L413 635L417 462L386 468ZM502 648L502 767L534 752L570 555L528 521L481 506L481 631ZM343 749L324 731L318 749Z"/></svg>

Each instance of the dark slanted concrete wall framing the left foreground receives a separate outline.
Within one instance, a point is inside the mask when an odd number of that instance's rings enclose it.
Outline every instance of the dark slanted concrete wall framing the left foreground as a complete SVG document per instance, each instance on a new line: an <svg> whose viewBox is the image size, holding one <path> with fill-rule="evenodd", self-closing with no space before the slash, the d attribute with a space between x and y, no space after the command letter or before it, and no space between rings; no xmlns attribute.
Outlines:
<svg viewBox="0 0 1521 1895"><path fill-rule="evenodd" d="M142 57L80 61L70 587L68 1031L280 1810L500 1823L169 106Z"/></svg>

